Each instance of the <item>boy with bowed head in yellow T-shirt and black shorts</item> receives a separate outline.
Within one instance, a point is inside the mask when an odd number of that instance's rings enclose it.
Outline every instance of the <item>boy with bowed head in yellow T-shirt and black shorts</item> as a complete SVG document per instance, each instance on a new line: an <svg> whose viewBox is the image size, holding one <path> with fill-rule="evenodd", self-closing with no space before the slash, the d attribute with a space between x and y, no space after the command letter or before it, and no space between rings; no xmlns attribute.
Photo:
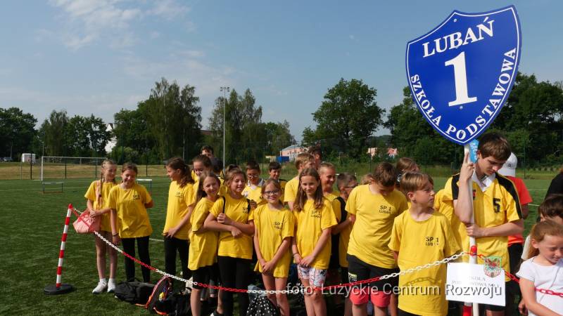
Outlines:
<svg viewBox="0 0 563 316"><path fill-rule="evenodd" d="M355 187L350 192L346 211L354 223L348 242L348 279L356 282L398 272L393 251L389 249L393 220L407 209L407 199L395 190L396 171L393 165L382 162L375 167L373 182ZM374 282L368 291L367 284L354 287L350 293L354 316L366 315L367 301L374 303L374 315L386 315L391 294L383 291L398 282L396 277ZM393 298L394 299L394 298ZM395 303L391 304L396 313Z"/></svg>

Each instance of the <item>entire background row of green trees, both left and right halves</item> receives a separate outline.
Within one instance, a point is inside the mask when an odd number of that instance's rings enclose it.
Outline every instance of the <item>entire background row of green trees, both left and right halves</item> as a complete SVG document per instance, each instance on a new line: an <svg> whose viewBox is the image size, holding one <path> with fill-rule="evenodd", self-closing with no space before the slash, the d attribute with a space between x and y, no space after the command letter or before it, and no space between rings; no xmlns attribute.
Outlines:
<svg viewBox="0 0 563 316"><path fill-rule="evenodd" d="M563 153L563 85L538 81L519 73L505 107L490 126L507 136L521 162L558 164ZM377 147L376 159L389 159L387 147L398 149L420 164L459 162L460 146L448 142L425 121L413 102L410 89L403 88L403 101L388 111L377 104L377 89L361 79L340 79L324 95L312 113L315 127L303 131L302 145L320 145L327 157L367 161L367 148ZM179 156L189 160L203 144L215 147L222 157L223 125L225 160L242 164L248 159L263 161L267 155L296 143L289 122L262 121L262 106L250 89L215 99L202 133L201 106L194 86L179 86L162 78L146 100L134 110L114 114L113 131L93 114L68 117L53 110L39 129L37 119L16 107L0 108L0 156L18 157L23 152L49 156L111 157L118 163L132 161L160 164ZM227 120L223 124L223 113ZM388 136L374 137L379 129ZM106 144L117 140L111 152ZM381 150L384 149L384 150Z"/></svg>

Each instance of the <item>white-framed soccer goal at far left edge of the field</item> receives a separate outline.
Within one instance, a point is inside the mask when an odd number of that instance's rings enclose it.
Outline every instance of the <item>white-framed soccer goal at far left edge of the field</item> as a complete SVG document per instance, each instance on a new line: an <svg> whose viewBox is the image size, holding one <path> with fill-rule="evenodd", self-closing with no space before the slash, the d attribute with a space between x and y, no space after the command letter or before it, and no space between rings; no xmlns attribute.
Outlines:
<svg viewBox="0 0 563 316"><path fill-rule="evenodd" d="M99 178L106 157L41 157L41 180Z"/></svg>

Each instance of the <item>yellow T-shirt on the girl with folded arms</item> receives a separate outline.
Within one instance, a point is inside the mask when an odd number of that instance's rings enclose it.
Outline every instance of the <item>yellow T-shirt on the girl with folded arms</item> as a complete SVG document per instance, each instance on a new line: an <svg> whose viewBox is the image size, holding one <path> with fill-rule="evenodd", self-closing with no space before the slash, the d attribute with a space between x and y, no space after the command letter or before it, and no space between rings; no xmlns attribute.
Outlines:
<svg viewBox="0 0 563 316"><path fill-rule="evenodd" d="M232 220L239 223L248 224L252 220L253 211L248 206L248 200L242 197L241 199L233 199L231 195L224 196L225 202L222 197L219 197L215 204L210 209L210 213L217 217L223 211ZM230 232L219 233L219 250L218 256L227 256L232 258L252 258L252 237L246 234L241 234L241 237L234 238Z"/></svg>

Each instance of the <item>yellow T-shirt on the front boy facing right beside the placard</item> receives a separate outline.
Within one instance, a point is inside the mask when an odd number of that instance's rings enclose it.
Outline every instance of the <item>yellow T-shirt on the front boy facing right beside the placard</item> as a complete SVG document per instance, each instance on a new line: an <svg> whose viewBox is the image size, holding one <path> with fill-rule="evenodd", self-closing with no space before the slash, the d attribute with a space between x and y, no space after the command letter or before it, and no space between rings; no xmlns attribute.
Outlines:
<svg viewBox="0 0 563 316"><path fill-rule="evenodd" d="M409 211L395 218L389 249L398 251L400 270L433 263L460 251L448 218L434 212L416 221ZM399 308L417 315L446 315L445 272L447 265L436 265L399 277Z"/></svg>

